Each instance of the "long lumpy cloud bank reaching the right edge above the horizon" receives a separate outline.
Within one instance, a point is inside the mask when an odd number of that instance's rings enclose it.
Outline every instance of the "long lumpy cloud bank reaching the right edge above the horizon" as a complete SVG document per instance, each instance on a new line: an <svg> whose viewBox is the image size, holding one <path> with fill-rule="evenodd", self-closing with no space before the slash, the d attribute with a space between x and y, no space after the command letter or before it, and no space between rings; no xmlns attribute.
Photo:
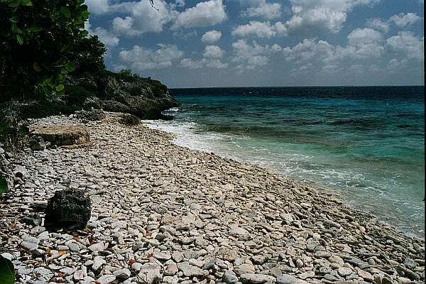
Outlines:
<svg viewBox="0 0 426 284"><path fill-rule="evenodd" d="M282 54L289 64L296 65L291 72L321 70L324 74L373 74L398 72L413 62L422 62L423 45L423 38L408 31L386 40L382 33L372 28L356 28L347 35L346 46L307 38L293 47L282 48Z"/></svg>

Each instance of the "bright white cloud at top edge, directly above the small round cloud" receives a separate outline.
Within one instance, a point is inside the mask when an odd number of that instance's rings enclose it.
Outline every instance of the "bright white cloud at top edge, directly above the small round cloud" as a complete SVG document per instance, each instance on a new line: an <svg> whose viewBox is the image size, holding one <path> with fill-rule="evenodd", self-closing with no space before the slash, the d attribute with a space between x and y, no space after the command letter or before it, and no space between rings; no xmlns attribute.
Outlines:
<svg viewBox="0 0 426 284"><path fill-rule="evenodd" d="M226 18L225 6L222 0L200 2L192 8L179 13L173 29L214 26Z"/></svg>

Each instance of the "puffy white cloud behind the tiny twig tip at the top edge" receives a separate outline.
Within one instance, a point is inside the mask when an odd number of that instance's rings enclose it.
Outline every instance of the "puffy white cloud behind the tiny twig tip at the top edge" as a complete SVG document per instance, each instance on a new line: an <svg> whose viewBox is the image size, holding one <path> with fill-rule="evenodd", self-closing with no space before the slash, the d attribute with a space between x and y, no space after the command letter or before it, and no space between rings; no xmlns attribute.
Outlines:
<svg viewBox="0 0 426 284"><path fill-rule="evenodd" d="M163 26L176 18L177 11L173 10L163 0L156 0L155 10L149 0L122 2L111 6L114 11L126 11L130 16L116 17L113 20L113 30L117 35L141 35L143 33L159 33Z"/></svg>

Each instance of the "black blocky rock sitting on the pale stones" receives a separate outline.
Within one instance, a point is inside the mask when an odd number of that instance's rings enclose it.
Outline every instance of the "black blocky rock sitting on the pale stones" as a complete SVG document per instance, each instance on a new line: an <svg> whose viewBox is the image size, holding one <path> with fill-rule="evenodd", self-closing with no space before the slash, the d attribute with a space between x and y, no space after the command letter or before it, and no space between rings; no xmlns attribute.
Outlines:
<svg viewBox="0 0 426 284"><path fill-rule="evenodd" d="M92 206L82 190L61 190L48 201L45 227L49 230L84 229L90 219Z"/></svg>

